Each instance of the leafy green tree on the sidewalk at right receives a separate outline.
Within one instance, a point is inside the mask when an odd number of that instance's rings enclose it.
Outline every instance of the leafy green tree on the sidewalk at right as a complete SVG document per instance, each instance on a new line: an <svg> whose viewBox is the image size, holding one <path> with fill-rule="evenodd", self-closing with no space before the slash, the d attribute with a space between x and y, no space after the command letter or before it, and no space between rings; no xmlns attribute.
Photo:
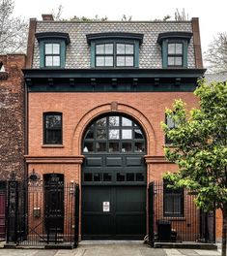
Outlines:
<svg viewBox="0 0 227 256"><path fill-rule="evenodd" d="M194 94L199 109L186 112L176 100L166 115L175 122L162 128L171 146L164 148L166 158L178 164L179 172L164 175L173 187L196 192L196 205L205 211L221 209L222 256L226 256L227 234L227 84L199 81Z"/></svg>

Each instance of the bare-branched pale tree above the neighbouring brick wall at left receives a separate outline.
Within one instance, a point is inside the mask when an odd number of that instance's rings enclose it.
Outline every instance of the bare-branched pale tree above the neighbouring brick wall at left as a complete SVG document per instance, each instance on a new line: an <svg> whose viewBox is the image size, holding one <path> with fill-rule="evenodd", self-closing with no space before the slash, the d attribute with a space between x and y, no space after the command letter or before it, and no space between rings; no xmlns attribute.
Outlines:
<svg viewBox="0 0 227 256"><path fill-rule="evenodd" d="M24 52L26 48L28 24L13 12L13 0L0 0L0 53Z"/></svg>

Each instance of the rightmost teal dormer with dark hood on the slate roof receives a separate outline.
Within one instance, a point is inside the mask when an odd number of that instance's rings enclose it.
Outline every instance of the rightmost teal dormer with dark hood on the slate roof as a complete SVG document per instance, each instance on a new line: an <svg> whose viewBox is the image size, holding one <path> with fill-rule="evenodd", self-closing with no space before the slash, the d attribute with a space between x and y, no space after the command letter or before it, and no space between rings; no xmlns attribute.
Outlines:
<svg viewBox="0 0 227 256"><path fill-rule="evenodd" d="M163 68L187 67L187 48L191 36L192 33L189 32L166 32L158 35Z"/></svg>

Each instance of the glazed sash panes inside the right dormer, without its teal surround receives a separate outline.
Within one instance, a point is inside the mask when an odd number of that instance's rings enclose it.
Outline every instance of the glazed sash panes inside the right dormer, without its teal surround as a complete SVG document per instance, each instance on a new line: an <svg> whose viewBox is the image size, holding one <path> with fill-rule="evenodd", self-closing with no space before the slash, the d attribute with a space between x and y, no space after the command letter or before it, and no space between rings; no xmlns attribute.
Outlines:
<svg viewBox="0 0 227 256"><path fill-rule="evenodd" d="M168 44L168 66L183 66L183 44Z"/></svg>

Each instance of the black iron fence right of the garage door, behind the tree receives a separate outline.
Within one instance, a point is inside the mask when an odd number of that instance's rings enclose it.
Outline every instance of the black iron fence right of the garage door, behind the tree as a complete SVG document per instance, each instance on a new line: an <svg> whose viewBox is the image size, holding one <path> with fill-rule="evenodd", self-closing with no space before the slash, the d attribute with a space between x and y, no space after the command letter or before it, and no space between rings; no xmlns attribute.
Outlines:
<svg viewBox="0 0 227 256"><path fill-rule="evenodd" d="M149 186L149 238L171 242L214 242L213 212L197 208L195 193L171 189L162 181Z"/></svg>

